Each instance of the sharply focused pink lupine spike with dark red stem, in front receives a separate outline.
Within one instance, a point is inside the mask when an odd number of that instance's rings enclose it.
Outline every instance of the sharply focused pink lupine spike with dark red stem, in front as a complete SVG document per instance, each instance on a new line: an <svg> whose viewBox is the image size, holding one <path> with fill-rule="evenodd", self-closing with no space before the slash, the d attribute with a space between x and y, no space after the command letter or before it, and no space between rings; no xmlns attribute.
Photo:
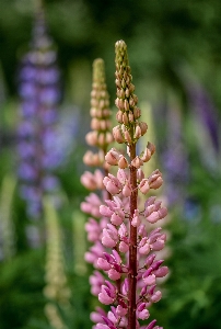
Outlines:
<svg viewBox="0 0 221 329"><path fill-rule="evenodd" d="M136 152L137 141L147 133L148 125L140 121L141 111L133 93L124 41L116 43L115 76L119 124L113 128L113 135L117 143L126 144L128 157L114 148L105 156L107 163L118 167L116 175L108 173L103 180L113 198L100 206L101 214L109 219L103 229L102 245L111 251L102 254L102 247L96 250L101 254L97 268L104 271L104 275L97 272L93 282L97 283L97 290L101 286L100 302L112 306L107 314L97 308L92 319L96 329L162 329L155 326L156 320L146 326L141 321L149 318L151 304L161 299L158 279L168 272L156 254L164 248L166 236L155 225L166 216L167 209L151 195L151 191L163 183L160 170L154 170L148 178L142 170L155 151L154 145L148 143L143 152ZM149 194L142 206L138 203L139 193ZM146 224L154 224L154 228L147 231L146 226L150 226Z"/></svg>

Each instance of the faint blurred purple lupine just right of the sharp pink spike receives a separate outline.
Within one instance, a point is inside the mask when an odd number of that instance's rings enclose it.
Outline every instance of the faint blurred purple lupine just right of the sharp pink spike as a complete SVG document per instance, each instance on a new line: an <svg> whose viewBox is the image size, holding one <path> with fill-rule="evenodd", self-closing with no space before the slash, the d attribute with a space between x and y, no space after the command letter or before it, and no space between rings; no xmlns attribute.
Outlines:
<svg viewBox="0 0 221 329"><path fill-rule="evenodd" d="M162 118L165 136L161 138L161 161L164 168L165 195L168 206L181 205L186 197L186 186L189 181L188 152L182 135L184 122L181 109L177 105L162 104L158 117Z"/></svg>

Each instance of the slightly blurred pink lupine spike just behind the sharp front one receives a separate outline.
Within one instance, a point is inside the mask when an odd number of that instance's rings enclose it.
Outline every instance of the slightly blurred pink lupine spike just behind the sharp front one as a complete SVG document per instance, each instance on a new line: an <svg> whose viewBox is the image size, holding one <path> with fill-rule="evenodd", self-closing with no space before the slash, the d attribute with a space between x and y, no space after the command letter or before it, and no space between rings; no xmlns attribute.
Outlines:
<svg viewBox="0 0 221 329"><path fill-rule="evenodd" d="M106 252L106 248L101 241L102 239L106 239L107 245L114 246L115 242L113 238L116 239L116 235L114 237L112 227L108 227L106 238L103 237L103 229L106 229L108 219L105 214L102 215L100 212L100 206L104 203L104 200L109 197L105 191L103 179L104 175L108 173L109 167L105 161L105 155L109 143L113 141L111 133L109 97L105 83L104 61L102 59L96 59L93 64L90 113L92 116L92 132L86 134L85 139L90 146L97 147L97 151L88 150L83 157L83 161L86 166L100 167L100 169L95 169L93 173L86 170L81 177L81 183L91 191L81 203L81 211L90 215L85 224L85 230L88 232L88 240L92 243L85 252L84 259L86 262L93 264L95 269L90 276L91 293L98 296L103 286L104 291L100 297L103 302L107 303L108 298L105 297L106 291L104 288L105 277L98 270L103 268L111 271L112 265L108 265L107 260L105 260L104 252ZM100 195L96 194L97 191ZM117 219L118 218L113 217L113 220ZM109 275L116 277L118 273L111 271Z"/></svg>

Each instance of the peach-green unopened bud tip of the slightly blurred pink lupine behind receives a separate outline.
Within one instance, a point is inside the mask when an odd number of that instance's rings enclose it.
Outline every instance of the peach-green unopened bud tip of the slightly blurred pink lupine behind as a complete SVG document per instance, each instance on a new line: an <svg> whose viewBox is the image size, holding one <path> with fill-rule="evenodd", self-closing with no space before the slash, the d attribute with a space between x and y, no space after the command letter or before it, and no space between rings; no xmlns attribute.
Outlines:
<svg viewBox="0 0 221 329"><path fill-rule="evenodd" d="M109 95L105 83L104 61L97 58L93 63L93 83L91 92L91 128L92 132L85 136L86 143L90 146L97 146L106 151L107 146L113 141L111 133L111 110ZM83 161L88 166L103 166L103 152L93 154L88 151L84 155Z"/></svg>

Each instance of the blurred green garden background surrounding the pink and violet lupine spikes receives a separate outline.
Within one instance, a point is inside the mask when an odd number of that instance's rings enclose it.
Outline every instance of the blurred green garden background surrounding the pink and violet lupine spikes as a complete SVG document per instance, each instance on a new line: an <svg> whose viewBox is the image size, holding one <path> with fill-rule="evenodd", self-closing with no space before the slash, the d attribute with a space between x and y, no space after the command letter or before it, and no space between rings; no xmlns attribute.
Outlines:
<svg viewBox="0 0 221 329"><path fill-rule="evenodd" d="M56 172L65 200L57 214L61 261L71 295L69 310L61 307L60 317L68 329L92 326L96 298L90 294L92 269L83 261L86 216L80 212L88 194L80 175L90 131L92 63L105 60L115 113L114 45L124 39L140 107L144 117L151 115L170 208L171 274L151 314L164 328L221 328L221 2L45 0L44 7L61 70L59 111L73 124L68 157ZM53 328L44 313L46 246L28 230L15 171L16 75L35 8L34 0L0 0L1 329ZM40 224L34 225L39 229Z"/></svg>

